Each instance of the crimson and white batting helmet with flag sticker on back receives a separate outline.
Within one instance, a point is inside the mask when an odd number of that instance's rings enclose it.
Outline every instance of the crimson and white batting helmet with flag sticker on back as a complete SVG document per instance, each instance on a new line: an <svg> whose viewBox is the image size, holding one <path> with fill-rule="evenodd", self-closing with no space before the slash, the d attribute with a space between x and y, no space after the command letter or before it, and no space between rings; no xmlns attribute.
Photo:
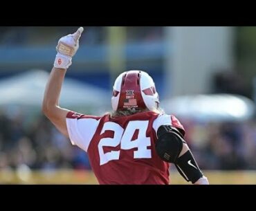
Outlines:
<svg viewBox="0 0 256 211"><path fill-rule="evenodd" d="M113 111L158 108L159 97L152 77L143 71L121 73L113 85Z"/></svg>

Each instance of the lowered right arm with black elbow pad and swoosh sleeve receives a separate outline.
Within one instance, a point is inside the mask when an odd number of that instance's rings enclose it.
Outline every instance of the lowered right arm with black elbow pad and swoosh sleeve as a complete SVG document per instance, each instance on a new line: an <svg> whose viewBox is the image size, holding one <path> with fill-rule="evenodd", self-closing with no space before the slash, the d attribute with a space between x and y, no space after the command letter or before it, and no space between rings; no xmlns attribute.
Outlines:
<svg viewBox="0 0 256 211"><path fill-rule="evenodd" d="M174 163L186 181L193 184L208 185L208 178L203 176L183 135L175 127L162 125L157 131L156 152L162 160Z"/></svg>

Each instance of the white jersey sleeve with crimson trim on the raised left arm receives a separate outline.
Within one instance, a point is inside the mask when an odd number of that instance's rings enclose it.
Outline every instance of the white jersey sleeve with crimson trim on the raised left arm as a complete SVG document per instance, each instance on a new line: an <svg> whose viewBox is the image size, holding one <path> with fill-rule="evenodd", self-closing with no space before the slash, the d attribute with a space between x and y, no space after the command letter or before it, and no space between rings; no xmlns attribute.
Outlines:
<svg viewBox="0 0 256 211"><path fill-rule="evenodd" d="M98 116L86 116L69 111L66 115L66 127L72 145L77 145L87 152L99 123L100 117Z"/></svg>

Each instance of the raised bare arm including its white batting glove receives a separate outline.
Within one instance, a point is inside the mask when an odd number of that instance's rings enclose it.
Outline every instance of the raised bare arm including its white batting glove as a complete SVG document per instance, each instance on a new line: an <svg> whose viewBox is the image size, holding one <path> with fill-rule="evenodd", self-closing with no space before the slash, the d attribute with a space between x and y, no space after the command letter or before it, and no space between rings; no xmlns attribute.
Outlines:
<svg viewBox="0 0 256 211"><path fill-rule="evenodd" d="M59 106L60 91L62 82L66 74L68 66L72 64L71 60L79 47L79 38L84 29L82 27L72 35L62 37L56 47L57 55L55 57L54 67L46 84L44 91L44 100L42 103L42 111L44 115L53 122L53 125L59 129L62 134L68 137L66 127L67 109Z"/></svg>

